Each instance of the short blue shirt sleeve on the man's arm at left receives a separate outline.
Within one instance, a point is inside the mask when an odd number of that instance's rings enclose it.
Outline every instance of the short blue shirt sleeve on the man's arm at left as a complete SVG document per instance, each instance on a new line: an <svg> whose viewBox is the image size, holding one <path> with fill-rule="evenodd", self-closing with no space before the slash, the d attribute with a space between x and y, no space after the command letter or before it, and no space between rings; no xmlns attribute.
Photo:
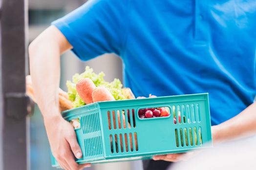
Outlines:
<svg viewBox="0 0 256 170"><path fill-rule="evenodd" d="M122 30L126 25L126 0L89 0L68 15L54 21L81 59L104 53L120 55Z"/></svg>

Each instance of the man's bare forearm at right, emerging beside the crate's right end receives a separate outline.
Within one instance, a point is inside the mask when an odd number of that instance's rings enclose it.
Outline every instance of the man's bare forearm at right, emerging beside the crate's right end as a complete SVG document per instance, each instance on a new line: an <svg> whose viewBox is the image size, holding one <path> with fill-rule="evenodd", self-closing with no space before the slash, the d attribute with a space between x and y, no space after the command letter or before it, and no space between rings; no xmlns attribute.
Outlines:
<svg viewBox="0 0 256 170"><path fill-rule="evenodd" d="M256 102L240 114L217 126L213 126L213 142L239 139L256 134Z"/></svg>

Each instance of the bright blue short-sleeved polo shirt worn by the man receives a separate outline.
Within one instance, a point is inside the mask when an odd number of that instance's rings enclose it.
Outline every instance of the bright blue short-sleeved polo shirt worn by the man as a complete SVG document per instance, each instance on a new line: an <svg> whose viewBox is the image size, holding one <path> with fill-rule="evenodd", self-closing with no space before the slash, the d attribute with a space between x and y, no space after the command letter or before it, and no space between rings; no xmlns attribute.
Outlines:
<svg viewBox="0 0 256 170"><path fill-rule="evenodd" d="M81 60L119 55L136 96L208 92L213 125L254 102L255 0L89 0L53 24Z"/></svg>

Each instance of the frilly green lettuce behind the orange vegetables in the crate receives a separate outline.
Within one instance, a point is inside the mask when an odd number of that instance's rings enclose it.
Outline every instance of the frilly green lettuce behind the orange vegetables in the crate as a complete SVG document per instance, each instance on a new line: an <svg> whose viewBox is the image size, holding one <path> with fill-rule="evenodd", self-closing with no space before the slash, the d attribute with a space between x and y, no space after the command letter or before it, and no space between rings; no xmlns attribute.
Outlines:
<svg viewBox="0 0 256 170"><path fill-rule="evenodd" d="M114 79L112 82L106 82L104 80L105 74L104 72L100 72L99 74L96 74L93 72L93 69L86 66L85 72L78 74L76 73L72 77L72 82L67 81L67 94L69 97L69 100L72 102L73 107L80 107L85 105L85 102L81 99L81 97L78 95L76 91L76 84L82 79L82 78L90 78L93 83L98 86L105 86L110 93L113 95L115 100L124 100L125 96L122 94L122 83L119 79Z"/></svg>

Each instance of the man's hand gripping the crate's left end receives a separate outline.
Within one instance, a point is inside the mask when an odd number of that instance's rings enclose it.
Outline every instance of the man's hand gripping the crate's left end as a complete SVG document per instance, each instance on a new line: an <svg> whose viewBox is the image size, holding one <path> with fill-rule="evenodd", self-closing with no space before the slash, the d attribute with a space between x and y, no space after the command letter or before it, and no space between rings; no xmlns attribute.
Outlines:
<svg viewBox="0 0 256 170"><path fill-rule="evenodd" d="M81 158L73 126L61 116L44 119L44 125L51 150L61 168L65 170L82 170L90 164L77 164L74 158Z"/></svg>

